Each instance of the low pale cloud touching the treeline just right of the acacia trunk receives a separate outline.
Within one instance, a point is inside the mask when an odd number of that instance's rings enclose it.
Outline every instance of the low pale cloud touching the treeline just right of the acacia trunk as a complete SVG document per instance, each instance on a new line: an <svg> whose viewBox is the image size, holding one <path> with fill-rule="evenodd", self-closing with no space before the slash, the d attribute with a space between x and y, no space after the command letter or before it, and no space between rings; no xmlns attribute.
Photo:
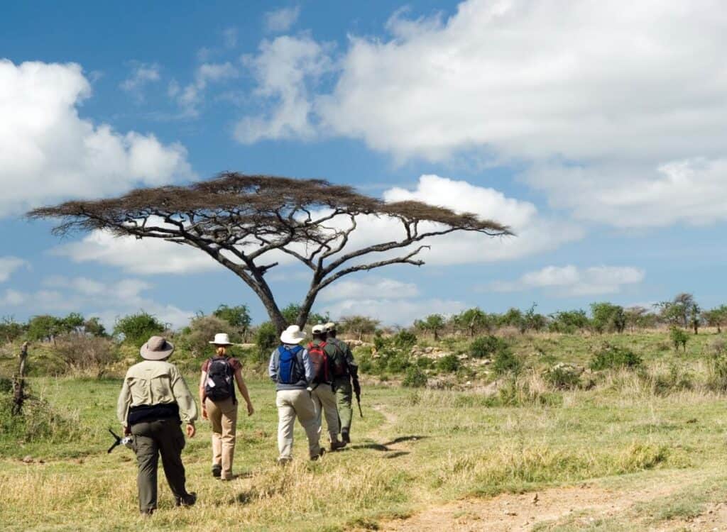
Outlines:
<svg viewBox="0 0 727 532"><path fill-rule="evenodd" d="M345 300L322 305L334 320L346 315L375 317L387 325L408 326L417 318L429 314L452 315L467 308L467 304L449 299L385 299Z"/></svg>

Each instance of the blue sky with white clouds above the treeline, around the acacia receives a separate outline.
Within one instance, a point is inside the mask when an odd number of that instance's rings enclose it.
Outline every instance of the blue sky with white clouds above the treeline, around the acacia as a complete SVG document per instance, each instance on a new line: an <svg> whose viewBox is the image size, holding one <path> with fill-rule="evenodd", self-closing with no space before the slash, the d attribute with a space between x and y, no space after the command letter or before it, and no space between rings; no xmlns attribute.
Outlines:
<svg viewBox="0 0 727 532"><path fill-rule="evenodd" d="M425 267L353 276L316 305L334 318L726 302L723 9L617 4L4 6L0 315L112 324L144 309L180 326L244 303L262 321L252 291L193 250L60 241L20 217L224 170L321 177L518 233L447 237ZM305 291L292 265L270 275L283 304Z"/></svg>

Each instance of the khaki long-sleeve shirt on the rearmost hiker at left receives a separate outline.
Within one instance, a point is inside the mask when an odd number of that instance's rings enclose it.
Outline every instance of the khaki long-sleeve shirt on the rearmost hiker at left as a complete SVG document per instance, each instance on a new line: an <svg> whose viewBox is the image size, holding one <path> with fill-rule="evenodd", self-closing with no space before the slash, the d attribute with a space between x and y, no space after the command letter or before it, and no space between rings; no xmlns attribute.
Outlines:
<svg viewBox="0 0 727 532"><path fill-rule="evenodd" d="M197 419L197 403L177 366L165 360L143 360L126 371L116 416L124 427L129 408L177 403L183 423Z"/></svg>

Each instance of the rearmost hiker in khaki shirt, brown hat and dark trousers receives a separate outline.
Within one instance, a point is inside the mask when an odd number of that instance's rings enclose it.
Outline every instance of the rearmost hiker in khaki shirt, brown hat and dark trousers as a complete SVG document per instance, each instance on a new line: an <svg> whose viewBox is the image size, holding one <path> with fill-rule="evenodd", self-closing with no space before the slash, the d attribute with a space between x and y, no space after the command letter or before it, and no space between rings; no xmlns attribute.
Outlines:
<svg viewBox="0 0 727 532"><path fill-rule="evenodd" d="M177 506L191 506L197 499L185 488L185 438L180 428L185 423L188 437L193 438L197 406L177 366L166 361L172 351L174 346L161 336L152 336L142 345L144 360L126 372L116 406L124 434L134 436L142 515L151 515L156 509L159 454Z"/></svg>

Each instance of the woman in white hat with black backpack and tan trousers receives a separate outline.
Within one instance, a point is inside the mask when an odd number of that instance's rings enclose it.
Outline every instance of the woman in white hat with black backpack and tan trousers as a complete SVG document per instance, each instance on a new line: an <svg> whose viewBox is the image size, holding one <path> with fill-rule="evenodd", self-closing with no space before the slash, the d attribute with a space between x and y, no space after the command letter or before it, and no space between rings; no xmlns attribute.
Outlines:
<svg viewBox="0 0 727 532"><path fill-rule="evenodd" d="M236 358L228 356L228 347L232 345L230 337L218 333L209 343L214 345L215 353L202 364L199 402L202 419L209 419L212 423L212 476L232 480L237 429L235 383L247 403L248 416L252 416L254 408L242 379L242 365Z"/></svg>

